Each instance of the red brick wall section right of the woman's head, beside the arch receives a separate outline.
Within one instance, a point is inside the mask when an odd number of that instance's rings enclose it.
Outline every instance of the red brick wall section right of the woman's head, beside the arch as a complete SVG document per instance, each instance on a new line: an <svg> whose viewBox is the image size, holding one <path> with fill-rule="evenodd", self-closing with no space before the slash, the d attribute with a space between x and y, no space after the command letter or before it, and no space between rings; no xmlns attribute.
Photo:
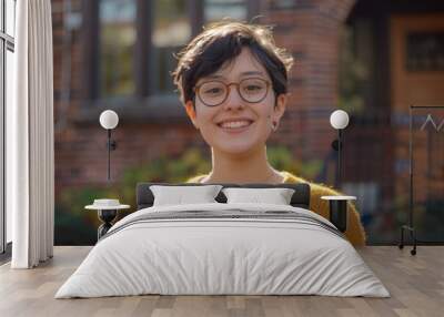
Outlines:
<svg viewBox="0 0 444 317"><path fill-rule="evenodd" d="M271 10L264 19L276 25L276 42L295 58L290 104L275 139L290 139L299 157L322 158L335 136L329 119L337 106L339 27L354 0L296 3L290 10Z"/></svg>

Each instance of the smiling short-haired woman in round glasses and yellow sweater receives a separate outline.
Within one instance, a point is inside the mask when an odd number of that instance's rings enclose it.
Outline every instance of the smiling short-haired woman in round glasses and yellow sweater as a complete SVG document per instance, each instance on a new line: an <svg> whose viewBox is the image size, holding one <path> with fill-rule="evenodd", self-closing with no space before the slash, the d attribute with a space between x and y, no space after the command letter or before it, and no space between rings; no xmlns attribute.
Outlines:
<svg viewBox="0 0 444 317"><path fill-rule="evenodd" d="M266 157L266 140L276 131L287 103L293 59L261 25L224 22L205 29L179 54L174 82L195 129L211 146L212 171L194 183L307 182L276 171ZM310 208L329 217L323 195L339 193L310 183ZM360 216L350 207L346 237L365 244Z"/></svg>

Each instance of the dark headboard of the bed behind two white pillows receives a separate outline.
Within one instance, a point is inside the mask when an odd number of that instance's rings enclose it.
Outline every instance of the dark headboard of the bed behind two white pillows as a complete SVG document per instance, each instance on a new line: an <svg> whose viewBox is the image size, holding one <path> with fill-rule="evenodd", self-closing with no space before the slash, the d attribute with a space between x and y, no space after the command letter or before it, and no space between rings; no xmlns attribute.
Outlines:
<svg viewBox="0 0 444 317"><path fill-rule="evenodd" d="M137 185L137 205L138 205L138 211L142 208L148 208L153 205L154 202L154 195L150 190L151 185L164 185L164 186L172 186L172 185L181 185L181 186L203 186L208 184L202 184L202 183L184 183L184 184L168 184L168 183L138 183ZM213 184L212 184L213 185ZM301 207L301 208L309 208L310 206L310 185L306 183L299 183L299 184L276 184L276 185L271 185L271 184L226 184L226 183L220 183L216 185L222 185L223 187L243 187L243 188L292 188L294 190L294 194L291 198L290 204L294 207ZM222 193L222 191L219 193L219 195L215 197L215 200L219 203L226 203L226 197Z"/></svg>

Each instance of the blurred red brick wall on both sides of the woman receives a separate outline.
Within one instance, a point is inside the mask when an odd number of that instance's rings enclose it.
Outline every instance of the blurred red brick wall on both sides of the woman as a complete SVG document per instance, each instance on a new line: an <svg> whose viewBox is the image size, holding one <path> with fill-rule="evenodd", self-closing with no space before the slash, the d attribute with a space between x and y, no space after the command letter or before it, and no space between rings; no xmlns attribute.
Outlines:
<svg viewBox="0 0 444 317"><path fill-rule="evenodd" d="M280 10L271 1L261 2L260 22L275 25L275 40L296 60L290 79L290 104L270 144L289 146L301 158L322 158L330 151L334 131L329 116L337 100L339 27L354 0L296 1ZM71 37L64 30L65 7L53 0L54 123L57 193L67 186L102 184L107 177L105 131L97 120L72 120L82 104L82 1L72 0ZM80 14L80 16L79 16ZM68 57L71 57L69 60ZM67 78L71 72L71 76ZM70 88L69 95L63 94ZM118 150L112 153L112 173L161 154L175 155L189 146L205 147L198 131L186 120L174 123L131 122L114 133Z"/></svg>

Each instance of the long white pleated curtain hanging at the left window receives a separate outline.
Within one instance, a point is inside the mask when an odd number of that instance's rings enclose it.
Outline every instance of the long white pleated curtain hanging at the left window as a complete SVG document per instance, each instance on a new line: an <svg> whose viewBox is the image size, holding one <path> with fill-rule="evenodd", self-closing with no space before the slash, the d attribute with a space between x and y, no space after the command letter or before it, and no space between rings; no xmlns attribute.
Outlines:
<svg viewBox="0 0 444 317"><path fill-rule="evenodd" d="M53 254L54 150L50 0L17 1L14 102L7 109L7 207L13 268Z"/></svg>

